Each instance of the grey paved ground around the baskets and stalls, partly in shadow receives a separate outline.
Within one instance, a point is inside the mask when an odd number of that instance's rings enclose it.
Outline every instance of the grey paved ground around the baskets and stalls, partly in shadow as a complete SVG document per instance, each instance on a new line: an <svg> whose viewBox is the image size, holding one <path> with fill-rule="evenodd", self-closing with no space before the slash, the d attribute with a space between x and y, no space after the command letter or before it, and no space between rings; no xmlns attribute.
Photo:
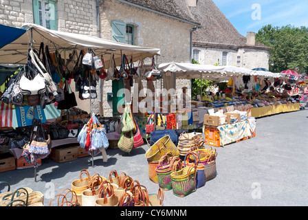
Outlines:
<svg viewBox="0 0 308 220"><path fill-rule="evenodd" d="M307 108L306 108L307 109ZM308 110L282 113L256 121L256 137L217 148L217 177L187 197L165 192L164 206L307 206L308 205ZM83 157L58 164L52 160L37 170L12 170L0 173L12 189L28 186L43 192L45 206L72 181L80 170L107 177L110 170L126 173L140 181L149 193L157 193L158 184L148 179L144 153L147 145L131 154L108 149L108 162L102 156ZM1 192L6 190L0 186ZM55 193L55 194L53 194Z"/></svg>

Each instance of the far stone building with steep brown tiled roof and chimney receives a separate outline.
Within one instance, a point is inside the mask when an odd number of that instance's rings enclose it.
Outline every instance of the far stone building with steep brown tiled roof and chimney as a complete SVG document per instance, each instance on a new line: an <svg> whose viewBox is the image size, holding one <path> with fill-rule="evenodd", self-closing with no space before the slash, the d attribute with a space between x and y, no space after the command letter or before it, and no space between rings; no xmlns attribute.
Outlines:
<svg viewBox="0 0 308 220"><path fill-rule="evenodd" d="M205 65L269 68L270 47L255 41L255 33L239 34L212 0L190 7L202 28L193 32L192 58Z"/></svg>

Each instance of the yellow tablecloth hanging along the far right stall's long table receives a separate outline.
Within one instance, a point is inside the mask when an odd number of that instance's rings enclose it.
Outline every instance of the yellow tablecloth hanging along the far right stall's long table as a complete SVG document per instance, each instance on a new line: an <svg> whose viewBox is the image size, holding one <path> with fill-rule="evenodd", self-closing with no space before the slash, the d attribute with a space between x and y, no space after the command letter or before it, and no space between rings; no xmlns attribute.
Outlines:
<svg viewBox="0 0 308 220"><path fill-rule="evenodd" d="M299 110L300 110L300 103L276 104L276 105L269 105L266 107L252 108L251 116L254 118L259 118L267 115L274 115L277 113L299 111Z"/></svg>

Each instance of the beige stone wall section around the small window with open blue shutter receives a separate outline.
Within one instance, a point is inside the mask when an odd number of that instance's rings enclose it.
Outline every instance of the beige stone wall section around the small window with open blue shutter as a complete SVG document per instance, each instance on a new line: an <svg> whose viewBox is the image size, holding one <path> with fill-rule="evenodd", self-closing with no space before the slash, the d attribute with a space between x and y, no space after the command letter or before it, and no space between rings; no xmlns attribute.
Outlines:
<svg viewBox="0 0 308 220"><path fill-rule="evenodd" d="M157 61L155 61L157 65L168 62L189 63L189 30L192 28L192 25L164 17L155 12L126 5L119 1L109 0L104 1L104 5L100 7L102 30L100 36L103 39L111 39L112 20L124 21L124 23L134 26L135 45L159 48L161 50L161 56L157 56ZM176 82L177 89L181 89L184 86L190 87L190 80L177 80ZM145 80L143 80L143 85L146 87ZM160 80L157 82L157 87L160 88ZM112 114L112 102L107 102L107 93L111 91L111 80L104 81L102 92L104 115Z"/></svg>

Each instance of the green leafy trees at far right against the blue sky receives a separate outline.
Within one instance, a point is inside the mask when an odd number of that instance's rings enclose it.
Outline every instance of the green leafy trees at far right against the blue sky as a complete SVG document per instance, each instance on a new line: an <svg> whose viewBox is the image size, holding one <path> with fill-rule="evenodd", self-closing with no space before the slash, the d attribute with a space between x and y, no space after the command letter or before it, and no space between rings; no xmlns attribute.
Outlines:
<svg viewBox="0 0 308 220"><path fill-rule="evenodd" d="M271 72L296 69L308 73L308 28L265 25L256 34L256 41L272 48L269 58Z"/></svg>

